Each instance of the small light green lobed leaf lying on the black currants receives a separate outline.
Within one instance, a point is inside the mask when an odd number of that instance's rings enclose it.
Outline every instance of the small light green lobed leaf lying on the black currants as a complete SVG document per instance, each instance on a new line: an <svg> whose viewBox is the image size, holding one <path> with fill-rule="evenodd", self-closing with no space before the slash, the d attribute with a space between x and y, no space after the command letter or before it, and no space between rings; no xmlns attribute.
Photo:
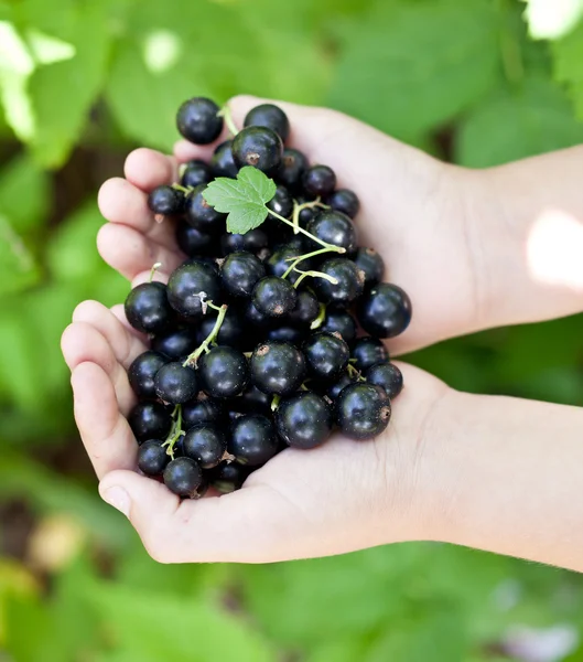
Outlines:
<svg viewBox="0 0 583 662"><path fill-rule="evenodd" d="M267 174L246 166L233 180L219 177L203 192L206 202L217 212L228 214L227 232L245 234L259 227L268 216L266 204L276 194L276 183Z"/></svg>

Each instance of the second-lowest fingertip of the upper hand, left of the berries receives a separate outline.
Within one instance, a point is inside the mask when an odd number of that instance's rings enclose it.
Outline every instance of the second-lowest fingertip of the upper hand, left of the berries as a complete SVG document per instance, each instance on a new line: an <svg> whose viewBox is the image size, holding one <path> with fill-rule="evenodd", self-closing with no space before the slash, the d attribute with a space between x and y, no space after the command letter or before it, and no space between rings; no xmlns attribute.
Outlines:
<svg viewBox="0 0 583 662"><path fill-rule="evenodd" d="M107 180L99 189L97 203L110 223L132 227L152 242L176 249L174 224L166 220L156 223L148 207L148 195L131 182L121 178Z"/></svg>

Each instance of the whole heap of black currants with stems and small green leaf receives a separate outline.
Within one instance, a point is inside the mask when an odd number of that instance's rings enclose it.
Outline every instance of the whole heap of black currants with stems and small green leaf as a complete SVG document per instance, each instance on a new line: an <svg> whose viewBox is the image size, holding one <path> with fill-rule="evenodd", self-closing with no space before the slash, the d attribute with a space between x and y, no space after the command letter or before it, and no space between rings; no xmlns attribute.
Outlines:
<svg viewBox="0 0 583 662"><path fill-rule="evenodd" d="M237 130L210 99L177 113L198 145L224 124L233 138L209 162L185 163L180 182L149 196L156 221L175 227L183 264L126 300L151 348L129 369L138 465L188 498L236 490L335 427L357 440L382 433L402 375L380 339L411 320L406 292L381 282L380 255L357 245L356 194L284 147L287 115L264 104Z"/></svg>

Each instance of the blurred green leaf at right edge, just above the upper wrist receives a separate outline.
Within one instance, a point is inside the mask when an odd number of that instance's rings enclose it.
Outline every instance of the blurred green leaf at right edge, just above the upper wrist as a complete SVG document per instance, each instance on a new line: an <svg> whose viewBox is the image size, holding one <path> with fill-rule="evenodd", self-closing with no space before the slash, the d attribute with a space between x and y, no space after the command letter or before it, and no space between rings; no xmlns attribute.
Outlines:
<svg viewBox="0 0 583 662"><path fill-rule="evenodd" d="M498 92L462 122L456 161L486 168L571 147L583 141L564 93L551 81L530 78Z"/></svg>

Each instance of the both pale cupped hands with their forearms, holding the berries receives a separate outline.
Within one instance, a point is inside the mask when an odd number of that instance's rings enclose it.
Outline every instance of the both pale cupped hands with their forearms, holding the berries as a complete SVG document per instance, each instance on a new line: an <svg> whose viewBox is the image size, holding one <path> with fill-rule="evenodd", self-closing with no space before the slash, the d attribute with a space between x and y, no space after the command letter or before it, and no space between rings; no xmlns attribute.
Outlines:
<svg viewBox="0 0 583 662"><path fill-rule="evenodd" d="M230 102L237 126L252 97ZM278 103L279 104L279 103ZM447 166L342 114L280 104L290 143L356 191L361 245L413 301L391 354L464 333L583 309L583 148L472 171ZM99 192L104 259L134 285L184 256L148 191L214 146L132 152ZM269 222L269 221L267 221ZM287 449L233 494L180 501L136 471L126 370L145 348L122 307L80 303L63 334L75 418L102 498L162 563L268 563L435 540L583 569L583 410L456 392L399 363L406 388L373 441L335 435Z"/></svg>

